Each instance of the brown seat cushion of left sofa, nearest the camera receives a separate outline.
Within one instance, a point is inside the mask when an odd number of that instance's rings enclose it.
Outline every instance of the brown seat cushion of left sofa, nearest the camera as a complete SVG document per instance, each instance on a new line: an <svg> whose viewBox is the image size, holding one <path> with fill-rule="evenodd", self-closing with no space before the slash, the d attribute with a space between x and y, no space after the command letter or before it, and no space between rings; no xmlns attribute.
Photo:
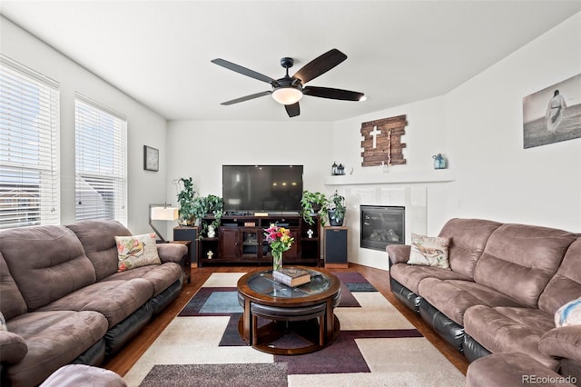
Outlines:
<svg viewBox="0 0 581 387"><path fill-rule="evenodd" d="M107 320L96 312L33 312L8 322L25 339L25 358L6 367L13 385L37 385L91 348L107 332Z"/></svg>

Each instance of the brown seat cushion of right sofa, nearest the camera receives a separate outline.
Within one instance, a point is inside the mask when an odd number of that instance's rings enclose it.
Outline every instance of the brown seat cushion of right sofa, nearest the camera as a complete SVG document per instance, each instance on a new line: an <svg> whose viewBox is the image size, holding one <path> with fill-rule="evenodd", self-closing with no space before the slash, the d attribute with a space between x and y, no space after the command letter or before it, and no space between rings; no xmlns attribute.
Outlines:
<svg viewBox="0 0 581 387"><path fill-rule="evenodd" d="M553 315L535 308L477 305L464 315L464 330L488 351L524 352L556 370L559 362L540 352L541 337L555 327Z"/></svg>

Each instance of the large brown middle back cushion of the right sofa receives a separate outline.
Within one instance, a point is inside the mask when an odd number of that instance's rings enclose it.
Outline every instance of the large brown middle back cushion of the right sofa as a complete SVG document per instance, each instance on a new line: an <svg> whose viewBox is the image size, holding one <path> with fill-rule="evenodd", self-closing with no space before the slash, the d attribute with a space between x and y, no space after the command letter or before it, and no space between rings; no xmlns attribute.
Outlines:
<svg viewBox="0 0 581 387"><path fill-rule="evenodd" d="M528 307L555 275L576 234L548 227L503 224L488 238L474 280Z"/></svg>

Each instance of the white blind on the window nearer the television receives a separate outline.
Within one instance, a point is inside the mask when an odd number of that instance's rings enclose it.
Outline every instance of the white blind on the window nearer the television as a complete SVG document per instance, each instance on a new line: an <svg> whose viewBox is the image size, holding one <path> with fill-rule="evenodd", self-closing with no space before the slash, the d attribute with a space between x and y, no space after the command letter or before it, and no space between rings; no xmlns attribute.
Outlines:
<svg viewBox="0 0 581 387"><path fill-rule="evenodd" d="M127 223L127 119L81 94L74 102L75 218Z"/></svg>

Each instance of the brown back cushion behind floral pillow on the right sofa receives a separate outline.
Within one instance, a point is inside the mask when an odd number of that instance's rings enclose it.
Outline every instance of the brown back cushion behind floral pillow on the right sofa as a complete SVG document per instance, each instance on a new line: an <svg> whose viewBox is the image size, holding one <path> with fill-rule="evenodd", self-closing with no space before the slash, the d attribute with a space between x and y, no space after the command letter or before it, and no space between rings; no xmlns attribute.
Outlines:
<svg viewBox="0 0 581 387"><path fill-rule="evenodd" d="M448 237L448 261L452 271L474 278L474 268L488 237L501 223L484 219L450 219L439 236Z"/></svg>

